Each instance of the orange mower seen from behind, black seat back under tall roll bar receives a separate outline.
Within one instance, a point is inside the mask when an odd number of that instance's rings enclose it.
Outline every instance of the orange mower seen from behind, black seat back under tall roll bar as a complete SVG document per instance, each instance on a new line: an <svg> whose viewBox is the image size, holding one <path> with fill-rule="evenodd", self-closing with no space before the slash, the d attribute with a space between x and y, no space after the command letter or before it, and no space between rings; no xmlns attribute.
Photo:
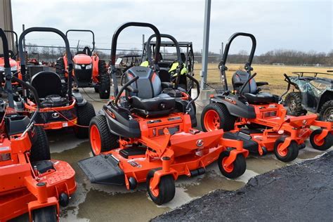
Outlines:
<svg viewBox="0 0 333 222"><path fill-rule="evenodd" d="M72 72L73 63L70 58L70 44L63 32L49 27L31 27L20 35L20 58L23 56L22 41L30 32L54 32L60 35L66 46L66 70ZM72 127L78 138L87 138L89 122L96 116L91 103L87 102L78 89L72 89L72 75L67 75L67 81L61 79L58 74L51 71L41 71L32 77L27 77L25 60L20 60L23 81L30 79L30 84L37 90L39 100L36 100L29 92L23 90L23 96L16 98L17 107L25 112L34 112L37 103L41 104L35 119L37 126L44 129L63 129Z"/></svg>

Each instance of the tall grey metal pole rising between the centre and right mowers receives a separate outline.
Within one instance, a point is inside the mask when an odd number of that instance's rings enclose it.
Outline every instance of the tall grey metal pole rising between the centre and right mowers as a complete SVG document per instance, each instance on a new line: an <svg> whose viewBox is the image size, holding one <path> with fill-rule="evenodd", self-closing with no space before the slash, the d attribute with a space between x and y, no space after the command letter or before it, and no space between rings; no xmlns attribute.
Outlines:
<svg viewBox="0 0 333 222"><path fill-rule="evenodd" d="M209 26L211 20L211 0L206 0L204 4L204 43L202 46L202 69L201 76L201 89L206 89L207 82L207 67L208 67L208 51L209 51Z"/></svg>

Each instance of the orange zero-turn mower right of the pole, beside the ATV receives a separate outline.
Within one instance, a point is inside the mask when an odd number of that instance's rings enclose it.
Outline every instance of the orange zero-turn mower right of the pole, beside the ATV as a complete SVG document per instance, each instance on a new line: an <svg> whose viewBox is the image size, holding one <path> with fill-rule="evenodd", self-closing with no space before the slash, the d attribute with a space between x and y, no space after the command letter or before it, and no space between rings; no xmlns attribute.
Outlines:
<svg viewBox="0 0 333 222"><path fill-rule="evenodd" d="M238 70L233 74L233 91L230 91L226 79L226 60L230 44L239 36L252 39L252 50L244 65L246 71ZM244 148L254 154L265 155L274 151L276 157L283 162L296 159L308 137L313 148L330 148L333 144L333 123L316 120L316 114L289 116L282 105L283 95L279 97L261 91L259 86L267 85L268 82L256 82L256 73L251 74L255 50L256 39L252 34L238 32L230 37L218 65L224 90L211 95L209 105L204 107L202 129L229 131L223 134L223 138L243 141ZM288 78L287 75L285 77ZM311 126L318 129L313 130Z"/></svg>

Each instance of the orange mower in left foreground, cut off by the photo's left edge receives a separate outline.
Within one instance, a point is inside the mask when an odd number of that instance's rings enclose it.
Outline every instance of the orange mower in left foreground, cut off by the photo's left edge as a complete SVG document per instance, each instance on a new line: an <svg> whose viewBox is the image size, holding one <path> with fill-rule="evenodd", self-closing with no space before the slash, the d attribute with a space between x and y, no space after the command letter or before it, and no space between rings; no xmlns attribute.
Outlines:
<svg viewBox="0 0 333 222"><path fill-rule="evenodd" d="M30 84L11 73L8 42L0 29L4 46L5 91L8 103L0 101L0 221L29 213L30 221L58 221L59 204L66 206L76 190L75 172L67 162L51 159L43 128L34 126L37 110L29 118L15 110L11 81L29 89Z"/></svg>

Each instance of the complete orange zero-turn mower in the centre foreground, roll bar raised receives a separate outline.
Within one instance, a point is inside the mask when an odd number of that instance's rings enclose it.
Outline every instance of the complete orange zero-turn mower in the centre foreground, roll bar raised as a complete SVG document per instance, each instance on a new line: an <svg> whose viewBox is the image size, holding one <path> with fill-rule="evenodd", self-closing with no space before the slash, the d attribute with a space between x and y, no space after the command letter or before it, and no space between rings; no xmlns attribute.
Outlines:
<svg viewBox="0 0 333 222"><path fill-rule="evenodd" d="M126 83L118 90L117 39L130 26L150 27L155 32L155 64L131 67L125 72ZM95 157L79 162L91 183L126 185L127 189L146 183L156 204L174 198L178 176L204 174L206 166L215 160L224 176L241 176L248 155L242 141L223 138L223 130L204 133L192 128L189 113L196 98L163 93L173 84L159 79L160 42L159 31L149 23L128 22L116 30L110 60L115 97L103 106L103 115L91 120L89 136ZM197 80L189 74L188 78L197 83L199 95Z"/></svg>

